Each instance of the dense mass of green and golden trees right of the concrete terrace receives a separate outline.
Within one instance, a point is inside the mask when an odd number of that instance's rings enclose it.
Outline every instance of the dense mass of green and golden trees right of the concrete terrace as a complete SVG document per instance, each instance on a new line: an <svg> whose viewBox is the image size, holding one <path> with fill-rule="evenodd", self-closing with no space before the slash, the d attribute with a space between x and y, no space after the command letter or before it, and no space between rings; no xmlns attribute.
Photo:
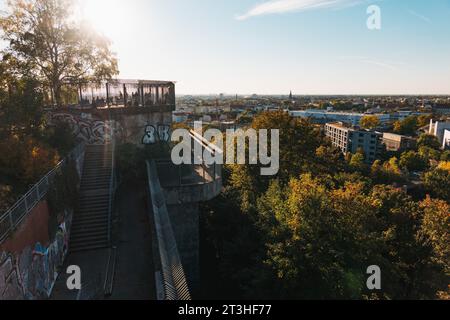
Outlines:
<svg viewBox="0 0 450 320"><path fill-rule="evenodd" d="M250 166L227 167L221 196L203 205L220 279L214 289L253 299L449 296L443 188L433 193L441 200L417 201L400 184L402 165L416 169L419 154L376 161L366 175L362 159L345 161L307 121L272 113L253 125L285 128L283 169L260 184ZM443 186L447 169L430 171L430 186ZM370 265L383 270L381 291L366 287Z"/></svg>

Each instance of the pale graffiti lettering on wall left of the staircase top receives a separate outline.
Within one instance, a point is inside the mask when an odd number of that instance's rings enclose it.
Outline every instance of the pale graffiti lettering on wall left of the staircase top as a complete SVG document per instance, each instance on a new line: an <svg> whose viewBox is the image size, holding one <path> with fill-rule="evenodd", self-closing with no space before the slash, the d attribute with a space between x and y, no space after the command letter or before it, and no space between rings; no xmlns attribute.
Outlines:
<svg viewBox="0 0 450 320"><path fill-rule="evenodd" d="M70 113L50 114L50 125L56 125L58 122L67 123L73 134L87 143L104 144L111 141L112 126L109 121L95 120L88 114L80 116Z"/></svg>

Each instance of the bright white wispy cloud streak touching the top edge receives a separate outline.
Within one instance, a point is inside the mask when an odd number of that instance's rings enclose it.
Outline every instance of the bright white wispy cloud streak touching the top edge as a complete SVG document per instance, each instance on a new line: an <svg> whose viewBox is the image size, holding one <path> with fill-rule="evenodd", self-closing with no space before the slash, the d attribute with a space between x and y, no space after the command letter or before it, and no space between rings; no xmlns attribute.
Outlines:
<svg viewBox="0 0 450 320"><path fill-rule="evenodd" d="M252 17L269 14L325 8L341 8L364 1L366 0L270 0L256 5L245 14L236 15L235 18L236 20L246 20Z"/></svg>

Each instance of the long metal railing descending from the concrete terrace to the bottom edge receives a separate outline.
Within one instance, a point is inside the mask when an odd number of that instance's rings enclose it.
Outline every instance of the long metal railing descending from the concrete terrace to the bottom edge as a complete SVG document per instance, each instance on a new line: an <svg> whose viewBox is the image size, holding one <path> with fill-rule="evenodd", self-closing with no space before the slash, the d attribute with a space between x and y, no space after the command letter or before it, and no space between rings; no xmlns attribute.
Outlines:
<svg viewBox="0 0 450 320"><path fill-rule="evenodd" d="M161 262L164 293L161 298L164 300L191 300L189 286L178 253L175 235L154 161L147 162L147 175Z"/></svg>

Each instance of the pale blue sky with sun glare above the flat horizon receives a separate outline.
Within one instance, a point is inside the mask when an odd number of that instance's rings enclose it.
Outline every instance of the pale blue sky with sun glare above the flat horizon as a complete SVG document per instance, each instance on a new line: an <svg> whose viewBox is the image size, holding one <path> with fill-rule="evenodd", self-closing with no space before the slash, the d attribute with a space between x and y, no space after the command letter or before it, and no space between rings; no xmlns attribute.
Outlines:
<svg viewBox="0 0 450 320"><path fill-rule="evenodd" d="M450 94L450 0L78 1L120 78L178 94Z"/></svg>

